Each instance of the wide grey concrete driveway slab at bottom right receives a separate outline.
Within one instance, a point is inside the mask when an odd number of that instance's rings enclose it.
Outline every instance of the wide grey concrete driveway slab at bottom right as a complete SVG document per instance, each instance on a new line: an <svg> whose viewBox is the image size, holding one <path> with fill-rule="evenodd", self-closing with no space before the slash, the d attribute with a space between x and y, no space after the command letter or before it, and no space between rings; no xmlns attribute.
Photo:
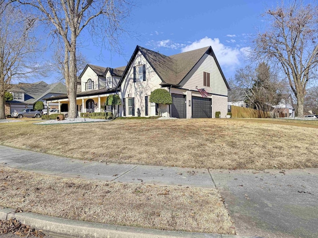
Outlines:
<svg viewBox="0 0 318 238"><path fill-rule="evenodd" d="M318 169L210 172L238 235L318 238Z"/></svg>

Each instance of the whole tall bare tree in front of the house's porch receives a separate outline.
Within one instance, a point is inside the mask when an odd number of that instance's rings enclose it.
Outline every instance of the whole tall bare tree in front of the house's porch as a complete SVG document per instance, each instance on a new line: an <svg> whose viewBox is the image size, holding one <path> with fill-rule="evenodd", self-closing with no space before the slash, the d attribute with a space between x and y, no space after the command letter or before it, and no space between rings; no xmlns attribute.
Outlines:
<svg viewBox="0 0 318 238"><path fill-rule="evenodd" d="M77 48L78 37L84 28L103 44L119 45L124 32L122 21L130 12L125 0L12 0L31 6L38 11L43 22L52 26L52 32L64 43L64 78L69 98L69 118L77 117ZM87 26L87 27L86 27ZM99 31L96 31L98 29Z"/></svg>

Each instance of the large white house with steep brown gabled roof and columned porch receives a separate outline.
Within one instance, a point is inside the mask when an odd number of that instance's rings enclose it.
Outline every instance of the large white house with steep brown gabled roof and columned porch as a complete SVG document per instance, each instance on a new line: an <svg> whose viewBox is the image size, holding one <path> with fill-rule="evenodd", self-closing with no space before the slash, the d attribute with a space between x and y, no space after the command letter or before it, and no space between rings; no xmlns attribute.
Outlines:
<svg viewBox="0 0 318 238"><path fill-rule="evenodd" d="M150 103L151 92L164 88L172 96L172 105L163 107L163 117L214 118L216 111L227 114L229 85L211 47L173 56L137 46L127 66L119 68L87 64L79 76L81 92L77 94L78 111L101 112L107 96L118 94L122 104L116 107L120 117L156 116ZM203 97L198 89L205 89ZM47 99L68 107L67 95ZM110 108L106 108L110 110Z"/></svg>

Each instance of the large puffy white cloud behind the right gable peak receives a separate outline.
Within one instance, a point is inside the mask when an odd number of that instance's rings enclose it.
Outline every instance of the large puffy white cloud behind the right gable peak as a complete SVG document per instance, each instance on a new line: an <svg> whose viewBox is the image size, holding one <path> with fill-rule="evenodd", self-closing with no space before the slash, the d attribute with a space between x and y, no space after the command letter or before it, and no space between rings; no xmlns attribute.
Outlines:
<svg viewBox="0 0 318 238"><path fill-rule="evenodd" d="M218 38L208 38L207 36L201 40L195 41L192 44L182 48L182 52L192 51L203 47L212 46L212 49L222 66L236 67L240 64L240 58L245 55L245 48L234 48L225 46Z"/></svg>

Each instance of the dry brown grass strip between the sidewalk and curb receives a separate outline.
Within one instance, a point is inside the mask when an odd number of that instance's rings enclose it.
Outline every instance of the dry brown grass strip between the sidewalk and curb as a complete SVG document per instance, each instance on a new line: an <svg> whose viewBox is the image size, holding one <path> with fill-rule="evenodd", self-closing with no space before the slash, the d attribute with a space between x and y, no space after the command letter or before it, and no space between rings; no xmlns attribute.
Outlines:
<svg viewBox="0 0 318 238"><path fill-rule="evenodd" d="M216 189L65 179L2 166L0 206L97 223L235 234Z"/></svg>

